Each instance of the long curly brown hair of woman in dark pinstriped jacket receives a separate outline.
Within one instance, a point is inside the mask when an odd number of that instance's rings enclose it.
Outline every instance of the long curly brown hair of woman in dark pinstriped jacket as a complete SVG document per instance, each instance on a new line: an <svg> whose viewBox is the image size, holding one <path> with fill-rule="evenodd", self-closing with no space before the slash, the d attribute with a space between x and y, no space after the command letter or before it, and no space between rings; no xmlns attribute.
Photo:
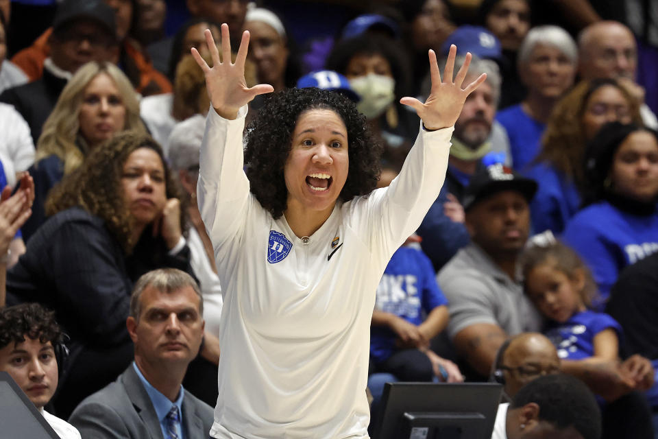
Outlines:
<svg viewBox="0 0 658 439"><path fill-rule="evenodd" d="M121 176L128 156L139 148L154 150L164 167L167 199L180 200L180 224L185 226L187 200L182 196L173 172L167 166L162 148L147 134L132 131L115 135L102 145L95 147L86 156L80 168L51 189L46 200L46 214L55 215L71 207L82 207L92 215L101 217L110 233L121 243L127 254L132 252L132 217L123 202Z"/></svg>

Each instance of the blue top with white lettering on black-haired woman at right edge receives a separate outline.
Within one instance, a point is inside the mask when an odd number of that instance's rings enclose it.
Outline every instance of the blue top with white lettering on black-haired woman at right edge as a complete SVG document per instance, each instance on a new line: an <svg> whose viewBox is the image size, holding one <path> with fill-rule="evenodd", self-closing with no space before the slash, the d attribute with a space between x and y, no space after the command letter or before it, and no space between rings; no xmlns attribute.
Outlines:
<svg viewBox="0 0 658 439"><path fill-rule="evenodd" d="M658 214L634 215L607 201L576 213L563 241L583 257L600 292L594 305L602 310L622 268L658 250Z"/></svg>

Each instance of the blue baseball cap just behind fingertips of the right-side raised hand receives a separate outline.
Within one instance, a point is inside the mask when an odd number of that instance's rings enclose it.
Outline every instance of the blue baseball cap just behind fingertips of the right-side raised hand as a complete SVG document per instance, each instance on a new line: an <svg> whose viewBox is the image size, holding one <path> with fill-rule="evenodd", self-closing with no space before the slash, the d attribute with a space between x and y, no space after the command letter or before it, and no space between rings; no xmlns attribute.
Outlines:
<svg viewBox="0 0 658 439"><path fill-rule="evenodd" d="M452 44L456 45L458 55L471 52L483 60L502 60L500 41L484 27L471 25L457 27L441 45L443 56L448 56Z"/></svg>

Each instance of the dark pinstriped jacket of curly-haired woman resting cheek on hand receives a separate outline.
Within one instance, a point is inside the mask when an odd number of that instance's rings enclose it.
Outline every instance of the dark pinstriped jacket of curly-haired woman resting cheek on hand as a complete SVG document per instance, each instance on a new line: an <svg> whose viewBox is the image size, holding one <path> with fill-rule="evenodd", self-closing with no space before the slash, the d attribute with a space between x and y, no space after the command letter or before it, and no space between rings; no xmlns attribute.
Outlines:
<svg viewBox="0 0 658 439"><path fill-rule="evenodd" d="M57 313L71 341L117 344L128 340L125 319L132 284L156 268L192 273L189 249L167 254L145 230L127 257L103 219L74 207L53 215L7 274L7 302L40 302Z"/></svg>

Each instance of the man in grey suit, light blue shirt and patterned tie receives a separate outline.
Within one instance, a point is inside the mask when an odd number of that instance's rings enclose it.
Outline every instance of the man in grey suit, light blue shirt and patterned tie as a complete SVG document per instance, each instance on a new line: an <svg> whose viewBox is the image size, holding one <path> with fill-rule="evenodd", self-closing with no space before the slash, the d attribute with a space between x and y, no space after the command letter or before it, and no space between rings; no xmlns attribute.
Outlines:
<svg viewBox="0 0 658 439"><path fill-rule="evenodd" d="M212 408L181 385L202 343L202 314L189 274L167 268L137 281L126 321L135 361L76 407L69 421L84 438L208 437Z"/></svg>

